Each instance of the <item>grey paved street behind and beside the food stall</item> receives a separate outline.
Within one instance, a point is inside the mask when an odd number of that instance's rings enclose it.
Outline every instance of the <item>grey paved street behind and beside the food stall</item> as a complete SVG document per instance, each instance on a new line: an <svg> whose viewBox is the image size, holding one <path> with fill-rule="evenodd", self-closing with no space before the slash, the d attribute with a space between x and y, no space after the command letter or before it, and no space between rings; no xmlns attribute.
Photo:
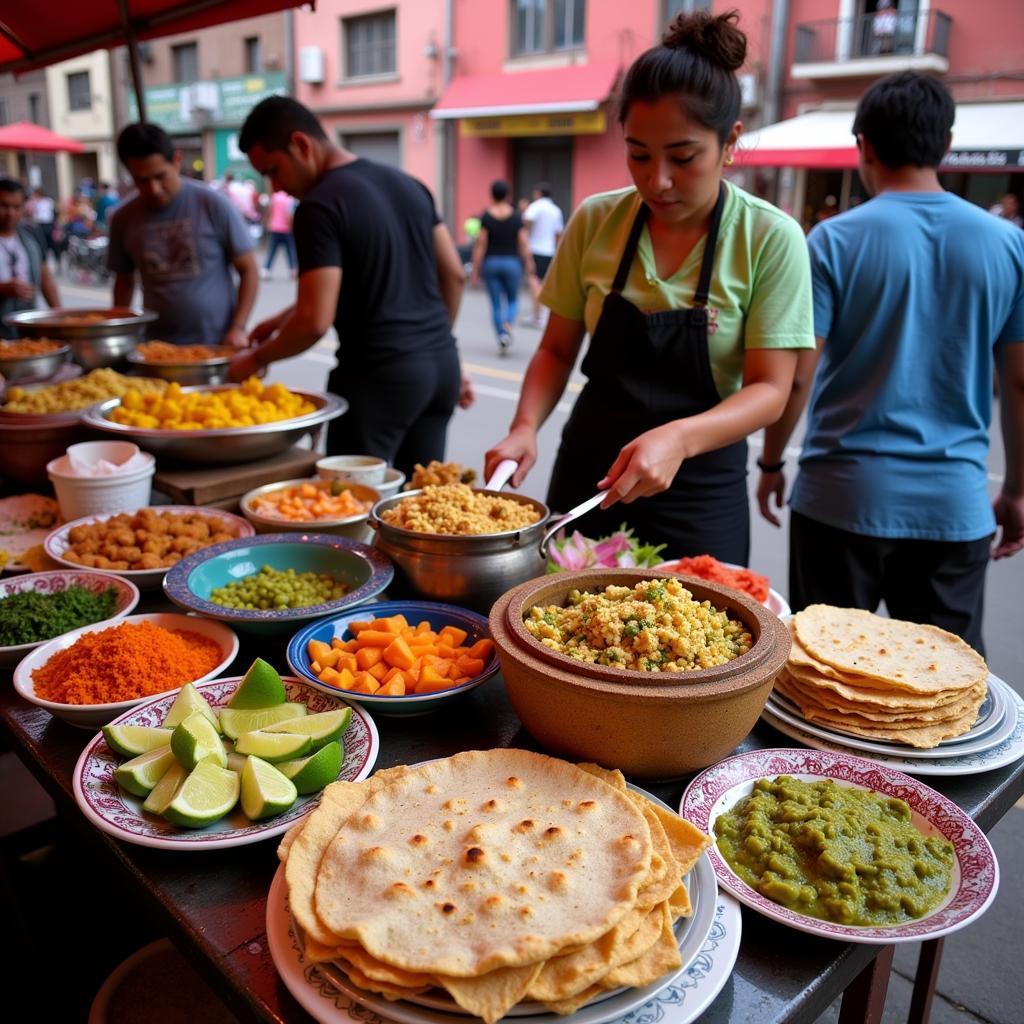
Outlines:
<svg viewBox="0 0 1024 1024"><path fill-rule="evenodd" d="M108 303L106 288L70 283L67 279L60 279L59 283L67 305ZM254 323L287 305L293 296L294 283L285 280L285 271L279 267L276 280L262 283ZM449 458L479 470L484 451L501 438L508 427L515 410L519 382L540 339L540 332L518 328L511 351L501 357L493 337L483 293L467 291L456 334L464 365L476 388L477 401L472 409L456 413L449 435ZM272 371L272 377L292 386L323 388L334 365L334 349L332 332L304 355L279 364ZM570 390L579 389L581 381L579 374L574 374ZM544 498L558 437L572 398L572 393L566 394L541 433L540 459L523 487L526 494ZM994 495L1002 479L1002 450L997 437L992 449L989 484ZM759 445L752 442L752 467L758 452ZM796 454L792 453L793 456ZM791 465L794 465L792 459ZM624 519L629 519L625 510ZM586 531L585 524L583 529ZM785 593L785 532L774 529L756 513L752 551L752 567L768 574L773 586ZM1019 691L1024 681L1022 595L1024 554L993 563L986 589L985 642L988 663L992 672ZM938 995L932 1013L934 1024L969 1024L976 1021L1014 1024L1022 1019L1019 918L1024 907L1018 880L1024 871L1024 810L1018 808L1011 811L993 830L991 840L1000 861L1001 890L995 905L978 924L946 941ZM902 946L897 951L897 974L890 985L886 1022L906 1019L910 991L907 979L913 976L916 951L916 946ZM838 1019L838 1011L834 1007L822 1020L835 1019Z"/></svg>

